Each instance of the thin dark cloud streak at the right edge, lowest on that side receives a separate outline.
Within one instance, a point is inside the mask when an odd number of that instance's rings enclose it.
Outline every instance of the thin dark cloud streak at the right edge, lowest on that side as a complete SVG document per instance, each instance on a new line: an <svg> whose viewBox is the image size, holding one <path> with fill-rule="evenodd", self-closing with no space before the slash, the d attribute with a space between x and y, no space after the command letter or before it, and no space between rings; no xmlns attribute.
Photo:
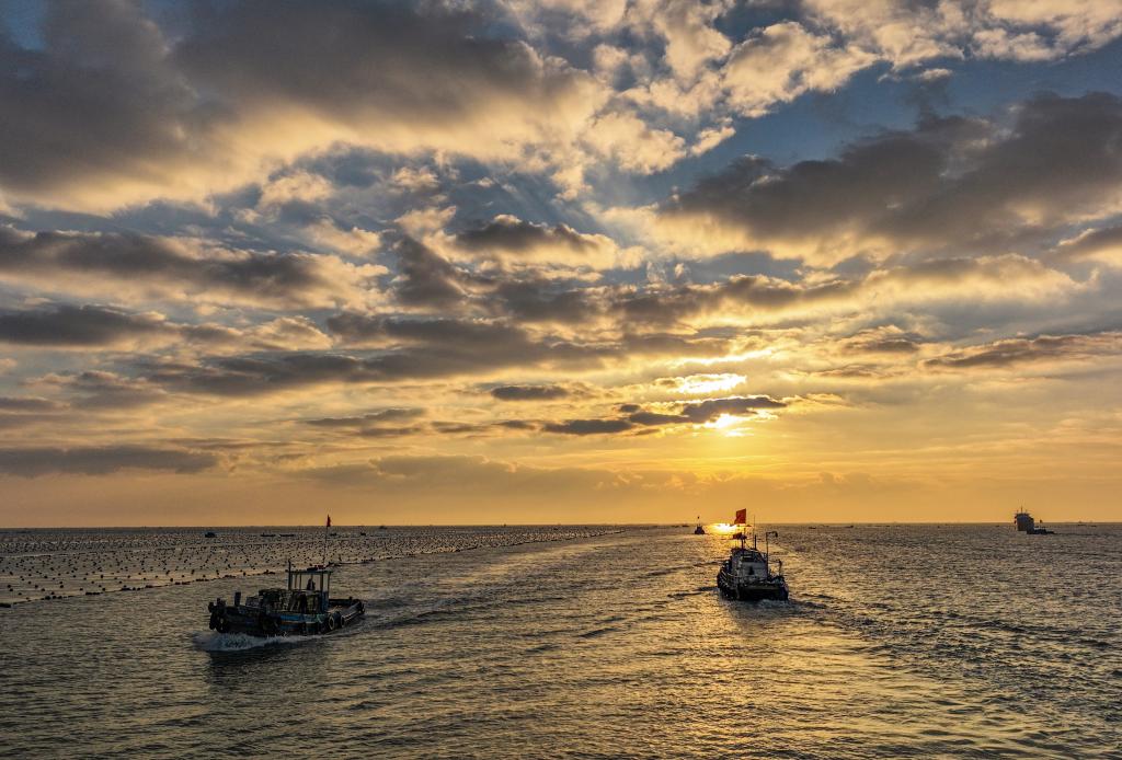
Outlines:
<svg viewBox="0 0 1122 760"><path fill-rule="evenodd" d="M931 370L1001 369L1032 362L1072 361L1122 353L1122 333L1014 337L971 346L922 364Z"/></svg>

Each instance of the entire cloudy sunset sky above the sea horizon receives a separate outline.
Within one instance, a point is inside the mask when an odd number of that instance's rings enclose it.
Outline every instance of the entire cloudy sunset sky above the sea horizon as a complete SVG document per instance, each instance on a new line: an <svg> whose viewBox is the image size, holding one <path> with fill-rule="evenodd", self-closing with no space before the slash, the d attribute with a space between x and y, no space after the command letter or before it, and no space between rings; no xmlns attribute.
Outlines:
<svg viewBox="0 0 1122 760"><path fill-rule="evenodd" d="M1118 0L0 0L0 526L1122 520Z"/></svg>

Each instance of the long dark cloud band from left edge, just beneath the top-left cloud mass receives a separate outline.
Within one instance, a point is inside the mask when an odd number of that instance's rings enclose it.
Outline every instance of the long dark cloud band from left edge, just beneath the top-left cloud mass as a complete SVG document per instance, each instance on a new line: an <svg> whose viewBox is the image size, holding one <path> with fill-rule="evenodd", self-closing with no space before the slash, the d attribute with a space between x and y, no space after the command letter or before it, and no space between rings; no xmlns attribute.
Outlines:
<svg viewBox="0 0 1122 760"><path fill-rule="evenodd" d="M252 303L295 308L346 294L347 274L332 257L311 253L190 254L166 240L129 232L33 235L0 226L0 279L31 279L47 288L67 280L79 291L147 285L208 297L232 294Z"/></svg>

